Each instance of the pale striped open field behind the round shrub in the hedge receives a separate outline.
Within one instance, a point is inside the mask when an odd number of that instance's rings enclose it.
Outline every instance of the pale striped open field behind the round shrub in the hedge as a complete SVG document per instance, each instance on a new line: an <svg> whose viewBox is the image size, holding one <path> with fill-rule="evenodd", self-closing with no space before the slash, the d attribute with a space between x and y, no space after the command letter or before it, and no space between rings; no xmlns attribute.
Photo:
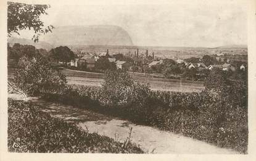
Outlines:
<svg viewBox="0 0 256 161"><path fill-rule="evenodd" d="M80 72L68 69L62 70L62 73L67 76L67 81L70 85L101 86L104 82L104 74L102 73ZM200 92L204 89L202 82L154 78L150 75L144 76L144 73L129 73L134 80L140 83L149 83L151 89L156 91Z"/></svg>

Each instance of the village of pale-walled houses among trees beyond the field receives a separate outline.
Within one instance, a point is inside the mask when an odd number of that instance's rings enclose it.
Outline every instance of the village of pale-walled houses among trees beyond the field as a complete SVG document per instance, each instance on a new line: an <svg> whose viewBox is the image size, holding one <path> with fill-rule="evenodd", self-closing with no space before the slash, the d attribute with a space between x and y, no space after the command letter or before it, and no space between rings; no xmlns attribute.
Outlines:
<svg viewBox="0 0 256 161"><path fill-rule="evenodd" d="M85 70L93 71L96 65L97 60L107 59L110 63L114 63L117 69L126 70L130 72L141 72L145 73L143 70L145 68L151 69L155 65L163 64L164 60L161 57L155 57L154 52L149 54L149 51L142 53L139 52L139 49L134 51L134 54L110 54L109 49L106 49L105 52L99 52L94 54L78 52L76 53L77 58L71 60L67 63L69 67L79 68L84 66ZM119 56L118 56L119 55ZM120 55L122 57L120 57ZM213 54L210 57L215 60L215 64L205 64L204 60L198 57L192 57L191 59L179 59L176 58L174 61L177 65L180 65L182 68L196 69L196 70L213 70L217 68L218 70L223 71L236 71L236 70L246 70L247 68L247 55L234 55L234 54ZM238 57L238 59L237 59ZM172 60L172 59L171 59ZM61 64L62 62L60 62ZM137 66L137 70L134 70L134 65Z"/></svg>

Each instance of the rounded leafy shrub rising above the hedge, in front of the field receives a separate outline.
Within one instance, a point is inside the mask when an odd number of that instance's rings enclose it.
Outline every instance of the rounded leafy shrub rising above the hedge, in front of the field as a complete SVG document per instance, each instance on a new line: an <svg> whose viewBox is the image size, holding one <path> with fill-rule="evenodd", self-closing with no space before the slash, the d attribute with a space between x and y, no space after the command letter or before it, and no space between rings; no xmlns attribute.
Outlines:
<svg viewBox="0 0 256 161"><path fill-rule="evenodd" d="M135 83L131 76L121 70L107 70L102 85L104 105L144 104L150 89L147 85Z"/></svg>

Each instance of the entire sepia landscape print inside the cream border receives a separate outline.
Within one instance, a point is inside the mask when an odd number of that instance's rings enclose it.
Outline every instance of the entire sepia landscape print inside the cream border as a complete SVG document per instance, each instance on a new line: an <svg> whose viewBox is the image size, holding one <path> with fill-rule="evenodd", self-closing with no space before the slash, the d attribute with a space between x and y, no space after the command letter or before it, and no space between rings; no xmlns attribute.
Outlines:
<svg viewBox="0 0 256 161"><path fill-rule="evenodd" d="M194 2L6 1L7 152L248 154L248 1Z"/></svg>

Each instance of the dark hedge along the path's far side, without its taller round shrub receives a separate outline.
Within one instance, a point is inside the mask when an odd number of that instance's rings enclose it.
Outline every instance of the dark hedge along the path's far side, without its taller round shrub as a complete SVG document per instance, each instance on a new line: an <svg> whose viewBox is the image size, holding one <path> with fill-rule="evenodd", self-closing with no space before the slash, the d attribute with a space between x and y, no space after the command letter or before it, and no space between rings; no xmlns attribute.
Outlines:
<svg viewBox="0 0 256 161"><path fill-rule="evenodd" d="M207 92L151 91L143 97L144 104L135 101L113 106L102 104L102 97L105 97L102 90L76 85L65 94L46 94L43 98L247 152L247 110L243 106L225 103L222 97Z"/></svg>

